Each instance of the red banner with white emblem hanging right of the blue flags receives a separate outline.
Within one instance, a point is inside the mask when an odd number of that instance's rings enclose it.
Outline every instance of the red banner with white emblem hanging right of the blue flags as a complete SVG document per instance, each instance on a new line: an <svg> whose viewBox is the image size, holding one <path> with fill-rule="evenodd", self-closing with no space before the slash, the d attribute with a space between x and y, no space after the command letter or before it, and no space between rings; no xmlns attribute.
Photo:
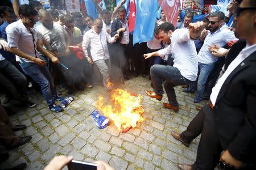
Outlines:
<svg viewBox="0 0 256 170"><path fill-rule="evenodd" d="M177 26L177 16L179 15L179 0L158 0L160 7L166 15L168 22Z"/></svg>

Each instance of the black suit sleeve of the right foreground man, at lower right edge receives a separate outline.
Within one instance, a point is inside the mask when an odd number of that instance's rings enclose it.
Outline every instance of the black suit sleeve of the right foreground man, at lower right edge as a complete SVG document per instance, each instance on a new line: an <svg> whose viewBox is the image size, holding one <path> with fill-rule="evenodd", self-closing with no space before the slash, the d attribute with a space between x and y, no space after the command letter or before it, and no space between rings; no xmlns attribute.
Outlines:
<svg viewBox="0 0 256 170"><path fill-rule="evenodd" d="M246 97L246 119L236 138L230 143L230 154L242 162L246 162L247 155L256 143L256 84L250 87Z"/></svg>

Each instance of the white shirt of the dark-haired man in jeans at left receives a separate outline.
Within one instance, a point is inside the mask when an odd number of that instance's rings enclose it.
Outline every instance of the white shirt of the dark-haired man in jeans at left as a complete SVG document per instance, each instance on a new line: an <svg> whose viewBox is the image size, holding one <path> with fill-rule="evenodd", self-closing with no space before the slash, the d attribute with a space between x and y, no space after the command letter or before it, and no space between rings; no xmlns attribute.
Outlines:
<svg viewBox="0 0 256 170"><path fill-rule="evenodd" d="M36 42L38 41L36 29L30 29L32 34L20 19L8 25L6 27L8 46L10 48L18 48L32 57L39 57L38 51L36 50ZM16 61L19 61L19 58L19 56L16 56ZM23 59L26 62L33 62L26 58Z"/></svg>

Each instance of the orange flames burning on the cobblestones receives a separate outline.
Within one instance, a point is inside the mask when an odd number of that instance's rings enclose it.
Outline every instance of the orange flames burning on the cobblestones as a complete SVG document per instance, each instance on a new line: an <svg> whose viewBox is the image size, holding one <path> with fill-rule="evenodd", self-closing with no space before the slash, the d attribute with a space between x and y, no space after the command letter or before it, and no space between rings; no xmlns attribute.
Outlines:
<svg viewBox="0 0 256 170"><path fill-rule="evenodd" d="M113 120L119 131L128 131L134 128L137 122L143 121L142 95L133 95L119 88L110 94L112 105L104 105L104 97L100 95L97 100L97 109Z"/></svg>

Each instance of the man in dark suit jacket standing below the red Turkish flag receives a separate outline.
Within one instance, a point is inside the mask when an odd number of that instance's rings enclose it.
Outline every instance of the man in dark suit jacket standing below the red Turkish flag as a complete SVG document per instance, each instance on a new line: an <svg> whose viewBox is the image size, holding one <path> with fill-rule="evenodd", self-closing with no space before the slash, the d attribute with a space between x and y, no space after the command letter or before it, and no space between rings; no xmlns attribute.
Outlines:
<svg viewBox="0 0 256 170"><path fill-rule="evenodd" d="M130 53L128 50L130 39L128 21L126 19L126 9L123 6L118 8L118 18L116 18L111 25L110 35L113 37L117 33L119 34L119 39L113 44L113 48L110 50L112 55L110 56L113 56L113 65L122 69L123 78L129 79L126 73L126 66Z"/></svg>

